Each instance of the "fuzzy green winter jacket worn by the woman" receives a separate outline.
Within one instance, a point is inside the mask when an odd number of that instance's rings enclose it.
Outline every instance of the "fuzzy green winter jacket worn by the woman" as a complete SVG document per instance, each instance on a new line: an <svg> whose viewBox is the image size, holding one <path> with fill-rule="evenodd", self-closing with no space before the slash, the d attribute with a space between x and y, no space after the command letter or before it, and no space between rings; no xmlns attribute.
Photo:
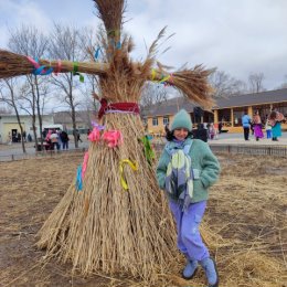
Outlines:
<svg viewBox="0 0 287 287"><path fill-rule="evenodd" d="M189 156L193 169L193 198L191 202L208 200L209 188L216 182L220 174L220 163L212 153L209 145L200 139L185 139L183 145L190 145ZM170 141L167 144L169 149L177 147L177 144ZM167 168L170 161L170 155L164 149L157 167L157 180L159 187L164 190Z"/></svg>

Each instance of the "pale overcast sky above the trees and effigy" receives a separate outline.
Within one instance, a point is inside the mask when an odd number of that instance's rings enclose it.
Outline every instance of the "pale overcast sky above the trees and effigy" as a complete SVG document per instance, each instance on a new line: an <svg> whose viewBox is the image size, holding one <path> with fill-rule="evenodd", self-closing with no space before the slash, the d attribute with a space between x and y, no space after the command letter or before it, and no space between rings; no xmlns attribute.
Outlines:
<svg viewBox="0 0 287 287"><path fill-rule="evenodd" d="M0 0L0 47L8 28L33 24L49 32L53 21L97 26L92 0ZM125 29L134 36L137 60L158 32L176 33L159 61L179 67L204 64L247 82L264 73L264 87L278 87L287 75L287 0L129 0Z"/></svg>

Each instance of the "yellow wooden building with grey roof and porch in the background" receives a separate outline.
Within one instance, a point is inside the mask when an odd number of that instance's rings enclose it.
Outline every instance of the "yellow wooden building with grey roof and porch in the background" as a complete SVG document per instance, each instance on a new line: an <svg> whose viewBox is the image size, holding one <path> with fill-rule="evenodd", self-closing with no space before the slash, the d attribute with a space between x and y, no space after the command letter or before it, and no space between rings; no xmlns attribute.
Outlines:
<svg viewBox="0 0 287 287"><path fill-rule="evenodd" d="M183 97L171 98L146 111L144 119L147 131L151 135L164 135L164 126L172 121L174 114L181 108L187 109L193 124L216 125L222 121L228 132L242 132L241 119L245 110L251 117L258 110L262 119L265 120L270 110L276 108L287 118L287 88L219 98L211 111L202 110ZM283 125L283 129L287 130L287 124Z"/></svg>

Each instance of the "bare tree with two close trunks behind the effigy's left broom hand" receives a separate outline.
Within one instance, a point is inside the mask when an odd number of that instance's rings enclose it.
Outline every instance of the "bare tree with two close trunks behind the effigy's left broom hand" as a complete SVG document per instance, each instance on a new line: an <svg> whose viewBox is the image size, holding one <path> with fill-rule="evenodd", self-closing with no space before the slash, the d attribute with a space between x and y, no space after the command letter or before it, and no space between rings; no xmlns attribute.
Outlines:
<svg viewBox="0 0 287 287"><path fill-rule="evenodd" d="M34 60L45 56L47 51L47 38L34 26L22 25L14 31L10 30L9 47L19 53L33 57ZM42 115L46 102L47 86L45 76L26 76L25 97L30 104L30 115L32 116L32 127L38 148L38 135L35 120L39 120L41 146L43 148L42 137ZM28 89L30 87L30 91Z"/></svg>

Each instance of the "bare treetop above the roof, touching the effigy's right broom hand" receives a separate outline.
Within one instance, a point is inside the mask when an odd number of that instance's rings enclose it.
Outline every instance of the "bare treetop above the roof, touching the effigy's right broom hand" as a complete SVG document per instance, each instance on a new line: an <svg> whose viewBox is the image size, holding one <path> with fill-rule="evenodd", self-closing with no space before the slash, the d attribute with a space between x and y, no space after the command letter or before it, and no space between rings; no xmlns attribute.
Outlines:
<svg viewBox="0 0 287 287"><path fill-rule="evenodd" d="M246 84L243 81L236 79L223 71L215 71L210 76L210 82L214 88L214 98L227 98L246 92Z"/></svg>

